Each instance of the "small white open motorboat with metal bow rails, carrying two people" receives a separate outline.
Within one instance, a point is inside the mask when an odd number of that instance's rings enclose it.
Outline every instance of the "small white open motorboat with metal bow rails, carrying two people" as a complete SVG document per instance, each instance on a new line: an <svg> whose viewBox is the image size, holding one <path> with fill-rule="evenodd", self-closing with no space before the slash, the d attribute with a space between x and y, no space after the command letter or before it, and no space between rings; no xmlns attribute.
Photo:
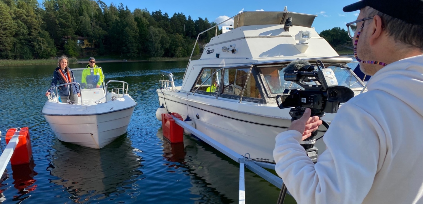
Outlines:
<svg viewBox="0 0 423 204"><path fill-rule="evenodd" d="M84 69L72 69L75 81L71 83L80 86ZM54 93L49 95L41 113L60 141L99 149L126 133L137 105L128 94L128 83L108 81L104 84L103 81L100 88L82 87L81 97L74 103L59 102L59 86L63 85L49 88Z"/></svg>

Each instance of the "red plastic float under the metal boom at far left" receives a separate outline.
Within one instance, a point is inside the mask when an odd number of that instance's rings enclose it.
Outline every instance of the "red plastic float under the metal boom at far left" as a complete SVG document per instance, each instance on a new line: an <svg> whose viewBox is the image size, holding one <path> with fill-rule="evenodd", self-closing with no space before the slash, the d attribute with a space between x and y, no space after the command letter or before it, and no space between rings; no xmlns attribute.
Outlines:
<svg viewBox="0 0 423 204"><path fill-rule="evenodd" d="M16 131L18 131L16 128L11 128L7 131L6 144L9 143ZM10 163L12 165L28 164L32 158L31 140L28 127L20 129L18 139L19 142L16 145L12 158L10 159Z"/></svg>

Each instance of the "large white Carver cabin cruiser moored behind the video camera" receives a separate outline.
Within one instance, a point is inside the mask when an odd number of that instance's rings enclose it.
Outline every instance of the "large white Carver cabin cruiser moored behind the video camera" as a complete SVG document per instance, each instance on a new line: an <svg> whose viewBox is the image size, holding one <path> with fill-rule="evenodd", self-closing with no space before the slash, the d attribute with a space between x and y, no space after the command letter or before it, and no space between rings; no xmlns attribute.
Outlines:
<svg viewBox="0 0 423 204"><path fill-rule="evenodd" d="M274 162L275 137L291 124L290 109L279 109L276 97L286 89L301 88L284 80L288 63L297 58L311 64L321 60L354 95L364 88L347 65L352 59L339 56L314 30L315 17L287 10L233 16L233 30L211 38L201 58L189 62L182 86L173 85L171 73L164 74L169 80L161 80L162 88L157 89L159 104L165 107L159 110L190 116L196 129L240 155ZM330 123L334 116L326 113L323 119ZM326 128L319 132L317 137ZM323 151L323 140L316 147Z"/></svg>

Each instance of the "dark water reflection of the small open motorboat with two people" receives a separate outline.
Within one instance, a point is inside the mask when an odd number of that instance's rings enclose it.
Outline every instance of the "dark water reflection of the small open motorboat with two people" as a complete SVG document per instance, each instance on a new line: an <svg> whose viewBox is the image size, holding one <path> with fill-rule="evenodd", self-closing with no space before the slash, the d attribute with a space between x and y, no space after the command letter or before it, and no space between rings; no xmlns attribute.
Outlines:
<svg viewBox="0 0 423 204"><path fill-rule="evenodd" d="M141 151L131 145L126 135L99 150L55 140L47 171L57 179L50 183L64 186L77 203L124 193L124 186L143 174L139 170L142 158L136 154Z"/></svg>

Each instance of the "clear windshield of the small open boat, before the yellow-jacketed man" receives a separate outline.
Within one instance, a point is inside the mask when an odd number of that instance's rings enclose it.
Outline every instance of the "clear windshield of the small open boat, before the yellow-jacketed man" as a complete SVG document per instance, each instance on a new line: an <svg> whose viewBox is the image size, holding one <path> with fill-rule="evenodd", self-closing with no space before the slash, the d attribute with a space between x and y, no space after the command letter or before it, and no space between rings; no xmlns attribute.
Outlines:
<svg viewBox="0 0 423 204"><path fill-rule="evenodd" d="M96 89L104 87L104 75L101 67L78 68L71 70L74 72L75 82L78 82L81 85L81 89Z"/></svg>

